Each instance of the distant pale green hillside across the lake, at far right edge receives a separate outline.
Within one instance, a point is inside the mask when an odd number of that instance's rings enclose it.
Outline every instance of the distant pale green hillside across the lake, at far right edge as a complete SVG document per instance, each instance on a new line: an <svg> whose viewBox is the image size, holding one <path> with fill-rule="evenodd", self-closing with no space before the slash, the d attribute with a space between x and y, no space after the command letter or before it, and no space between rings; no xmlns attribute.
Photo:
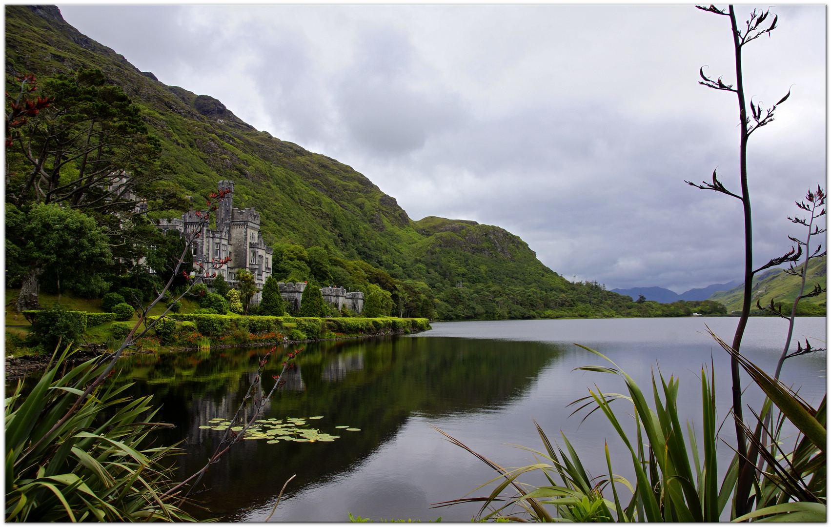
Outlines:
<svg viewBox="0 0 831 527"><path fill-rule="evenodd" d="M798 269L801 269L800 265ZM814 285L819 283L821 288L825 288L825 257L812 259L808 266L808 278L805 280L805 293L814 289ZM762 306L770 305L772 299L774 303L794 303L796 295L799 293L799 284L801 278L788 273L784 273L782 269L774 268L762 273L753 280L753 298L752 302L755 306L758 300ZM812 303L818 307L825 308L825 295L820 293L816 297L804 298L799 303ZM730 291L719 291L714 293L708 300L715 300L715 302L722 303L727 308L727 312L741 311L741 303L745 298L745 284L730 289Z"/></svg>

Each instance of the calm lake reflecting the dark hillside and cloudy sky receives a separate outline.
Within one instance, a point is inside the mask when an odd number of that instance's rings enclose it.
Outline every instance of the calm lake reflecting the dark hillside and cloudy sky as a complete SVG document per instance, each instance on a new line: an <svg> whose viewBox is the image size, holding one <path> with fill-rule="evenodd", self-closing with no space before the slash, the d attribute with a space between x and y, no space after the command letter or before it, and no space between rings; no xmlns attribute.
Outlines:
<svg viewBox="0 0 831 527"><path fill-rule="evenodd" d="M585 412L569 417L569 402L588 395L597 383L604 392L623 392L619 377L573 368L602 364L602 358L574 346L579 342L607 355L651 393L650 373L681 378L681 418L700 423L698 377L715 366L719 419L730 405L727 354L706 334L709 325L730 342L738 318L647 318L529 320L434 323L412 336L318 342L304 347L283 391L264 419L322 416L311 421L340 436L314 443L243 441L213 465L194 495L209 512L200 517L224 521L263 521L283 483L283 500L271 521L344 521L347 513L372 520L468 521L476 505L430 509L461 498L495 477L489 468L450 442L449 433L502 466L534 462L528 451L542 449L532 419L548 436L568 436L592 475L607 471L604 440L616 473L632 477L631 458L600 412L581 425ZM784 346L787 321L751 318L742 351L768 372ZM825 318L798 318L794 339L824 347ZM820 342L822 341L822 342ZM795 349L794 342L794 349ZM281 348L278 348L278 350ZM174 423L162 441L184 440L179 476L204 465L223 432L200 429L215 418L233 416L256 371L263 348L135 355L121 361L117 382L135 382L135 395L153 394L164 403L157 420ZM279 372L273 358L264 376ZM782 380L799 388L814 406L825 393L826 354L785 362ZM660 382L660 381L659 381ZM742 382L749 383L744 372ZM648 398L648 396L647 396ZM745 402L758 408L760 392ZM619 416L631 411L612 403ZM651 405L652 406L652 405ZM360 431L346 431L350 426ZM733 442L730 423L723 436ZM720 445L720 470L732 457ZM529 479L530 480L530 479ZM534 480L538 482L537 480ZM492 488L492 487L491 487ZM489 492L489 491L488 491ZM475 495L486 495L479 490Z"/></svg>

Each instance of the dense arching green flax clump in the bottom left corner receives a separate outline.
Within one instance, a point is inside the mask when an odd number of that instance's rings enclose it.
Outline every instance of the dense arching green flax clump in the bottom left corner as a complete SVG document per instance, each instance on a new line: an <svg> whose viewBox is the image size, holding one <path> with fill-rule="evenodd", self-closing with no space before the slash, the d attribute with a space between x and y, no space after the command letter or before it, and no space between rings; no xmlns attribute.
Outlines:
<svg viewBox="0 0 831 527"><path fill-rule="evenodd" d="M179 449L146 441L171 426L153 422L151 396L99 385L61 419L107 367L91 359L67 372L70 350L57 360L56 350L27 396L21 381L6 399L6 521L194 521L161 496Z"/></svg>

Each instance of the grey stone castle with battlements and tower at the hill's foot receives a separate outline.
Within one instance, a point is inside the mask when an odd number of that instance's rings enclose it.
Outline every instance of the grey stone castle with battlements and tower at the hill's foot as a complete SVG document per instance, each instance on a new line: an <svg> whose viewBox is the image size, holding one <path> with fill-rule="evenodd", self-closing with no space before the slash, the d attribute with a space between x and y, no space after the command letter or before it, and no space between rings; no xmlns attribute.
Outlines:
<svg viewBox="0 0 831 527"><path fill-rule="evenodd" d="M179 233L195 234L199 229L199 238L194 239L192 246L194 264L202 263L208 267L213 260L230 257L227 264L222 264L216 273L222 275L232 285L236 281L236 273L246 270L252 273L257 284L257 293L251 299L257 305L262 299L263 284L271 276L274 250L263 241L260 233L260 214L253 207L237 209L234 207L234 181L219 181L219 192L228 190L228 193L219 199L219 208L216 211L216 229L210 229L208 224L201 224L206 211L200 210L199 215L194 209L182 214L181 219L160 219L157 226L167 233L176 229ZM146 204L144 205L146 209ZM204 283L211 287L213 280L207 278ZM291 306L295 313L300 310L300 298L306 283L278 283L280 296ZM322 288L323 301L334 304L338 309L346 306L355 313L363 311L363 293L360 291L347 293L344 288Z"/></svg>

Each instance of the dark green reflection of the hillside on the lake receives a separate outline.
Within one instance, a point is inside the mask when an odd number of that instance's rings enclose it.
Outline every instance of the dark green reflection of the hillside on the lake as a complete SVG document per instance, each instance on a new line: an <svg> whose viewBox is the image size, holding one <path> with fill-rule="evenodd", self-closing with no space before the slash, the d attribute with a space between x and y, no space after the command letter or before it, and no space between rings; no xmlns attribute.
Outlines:
<svg viewBox="0 0 831 527"><path fill-rule="evenodd" d="M188 455L179 458L181 477L199 470L219 441L221 432L199 426L214 417L234 415L265 351L239 348L209 355L170 354L158 360L125 359L119 382L131 380L135 395L153 393L164 401L160 417L177 426L164 439L185 441ZM527 392L543 367L562 352L551 344L528 343L518 350L509 342L460 338L388 337L308 345L288 377L288 389L278 392L264 418L324 416L313 421L314 426L341 438L314 444L244 441L212 466L200 484L196 497L210 512L194 513L240 520L246 518L246 511L273 504L279 488L293 474L297 478L288 500L297 491L348 475L395 440L413 415L432 419L504 408ZM263 375L265 389L282 362L282 357L269 362ZM339 431L335 426L361 431ZM374 482L371 488L389 494L396 488L404 490L405 483L396 487ZM398 500L388 500L385 493L362 489L353 499L367 503L366 495L377 495L372 503L395 505L400 511L410 510L416 498L418 510L427 506L423 491L407 490ZM332 517L327 512L312 520L343 520L346 513L339 510Z"/></svg>

